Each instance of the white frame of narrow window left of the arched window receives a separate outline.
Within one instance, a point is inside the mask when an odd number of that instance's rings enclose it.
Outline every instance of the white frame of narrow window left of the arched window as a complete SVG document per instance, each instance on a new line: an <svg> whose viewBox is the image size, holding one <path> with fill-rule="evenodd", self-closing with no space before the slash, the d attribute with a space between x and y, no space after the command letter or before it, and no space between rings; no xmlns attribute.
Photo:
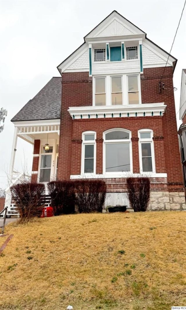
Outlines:
<svg viewBox="0 0 186 310"><path fill-rule="evenodd" d="M94 140L85 140L85 135L94 135ZM82 158L81 158L81 175L95 175L96 174L96 131L82 132ZM84 172L85 168L85 145L94 145L94 171L91 173Z"/></svg>

